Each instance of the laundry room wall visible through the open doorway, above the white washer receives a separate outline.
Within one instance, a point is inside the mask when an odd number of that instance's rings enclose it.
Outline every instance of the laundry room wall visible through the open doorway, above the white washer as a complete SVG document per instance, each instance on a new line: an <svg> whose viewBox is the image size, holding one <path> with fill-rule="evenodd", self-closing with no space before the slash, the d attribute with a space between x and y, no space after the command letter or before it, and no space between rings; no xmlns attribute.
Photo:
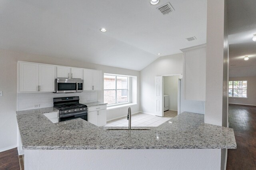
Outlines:
<svg viewBox="0 0 256 170"><path fill-rule="evenodd" d="M173 111L178 111L178 81L179 76L164 76L164 94L169 95L169 110Z"/></svg>

